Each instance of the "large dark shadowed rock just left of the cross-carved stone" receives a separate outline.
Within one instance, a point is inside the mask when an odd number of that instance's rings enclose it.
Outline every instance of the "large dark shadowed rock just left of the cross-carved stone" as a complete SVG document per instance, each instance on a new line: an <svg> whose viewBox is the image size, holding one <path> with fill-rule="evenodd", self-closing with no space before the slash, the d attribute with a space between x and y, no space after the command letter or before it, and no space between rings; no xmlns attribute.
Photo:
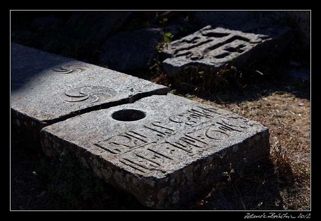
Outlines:
<svg viewBox="0 0 321 221"><path fill-rule="evenodd" d="M161 28L120 32L104 43L99 60L117 71L146 69L153 64L156 46L161 41Z"/></svg>

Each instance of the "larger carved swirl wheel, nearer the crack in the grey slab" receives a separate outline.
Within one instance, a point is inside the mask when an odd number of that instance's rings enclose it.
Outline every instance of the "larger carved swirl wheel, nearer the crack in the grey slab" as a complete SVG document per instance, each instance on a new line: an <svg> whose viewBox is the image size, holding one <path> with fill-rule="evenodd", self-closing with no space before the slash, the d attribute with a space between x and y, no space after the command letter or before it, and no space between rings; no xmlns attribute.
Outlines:
<svg viewBox="0 0 321 221"><path fill-rule="evenodd" d="M66 102L95 103L111 99L115 92L109 88L101 86L85 86L72 88L64 93Z"/></svg>

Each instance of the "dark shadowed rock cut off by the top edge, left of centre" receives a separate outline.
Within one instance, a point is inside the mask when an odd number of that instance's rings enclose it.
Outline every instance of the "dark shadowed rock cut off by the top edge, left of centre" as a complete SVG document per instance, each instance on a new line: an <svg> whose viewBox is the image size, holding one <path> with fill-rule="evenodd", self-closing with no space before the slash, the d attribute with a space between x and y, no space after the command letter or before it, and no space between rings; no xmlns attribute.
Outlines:
<svg viewBox="0 0 321 221"><path fill-rule="evenodd" d="M67 22L68 35L80 46L102 44L115 34L132 11L76 11Z"/></svg>

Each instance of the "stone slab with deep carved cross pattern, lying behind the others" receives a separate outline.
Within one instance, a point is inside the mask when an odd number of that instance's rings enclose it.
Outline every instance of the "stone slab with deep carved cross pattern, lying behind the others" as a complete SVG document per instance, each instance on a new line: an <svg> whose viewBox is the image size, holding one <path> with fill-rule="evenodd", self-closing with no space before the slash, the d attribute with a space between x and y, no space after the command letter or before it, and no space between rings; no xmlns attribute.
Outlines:
<svg viewBox="0 0 321 221"><path fill-rule="evenodd" d="M281 53L291 40L291 28L260 26L246 31L208 25L164 47L165 72L173 77L188 66L218 71L226 64L241 67L249 60L261 59L271 50Z"/></svg>

